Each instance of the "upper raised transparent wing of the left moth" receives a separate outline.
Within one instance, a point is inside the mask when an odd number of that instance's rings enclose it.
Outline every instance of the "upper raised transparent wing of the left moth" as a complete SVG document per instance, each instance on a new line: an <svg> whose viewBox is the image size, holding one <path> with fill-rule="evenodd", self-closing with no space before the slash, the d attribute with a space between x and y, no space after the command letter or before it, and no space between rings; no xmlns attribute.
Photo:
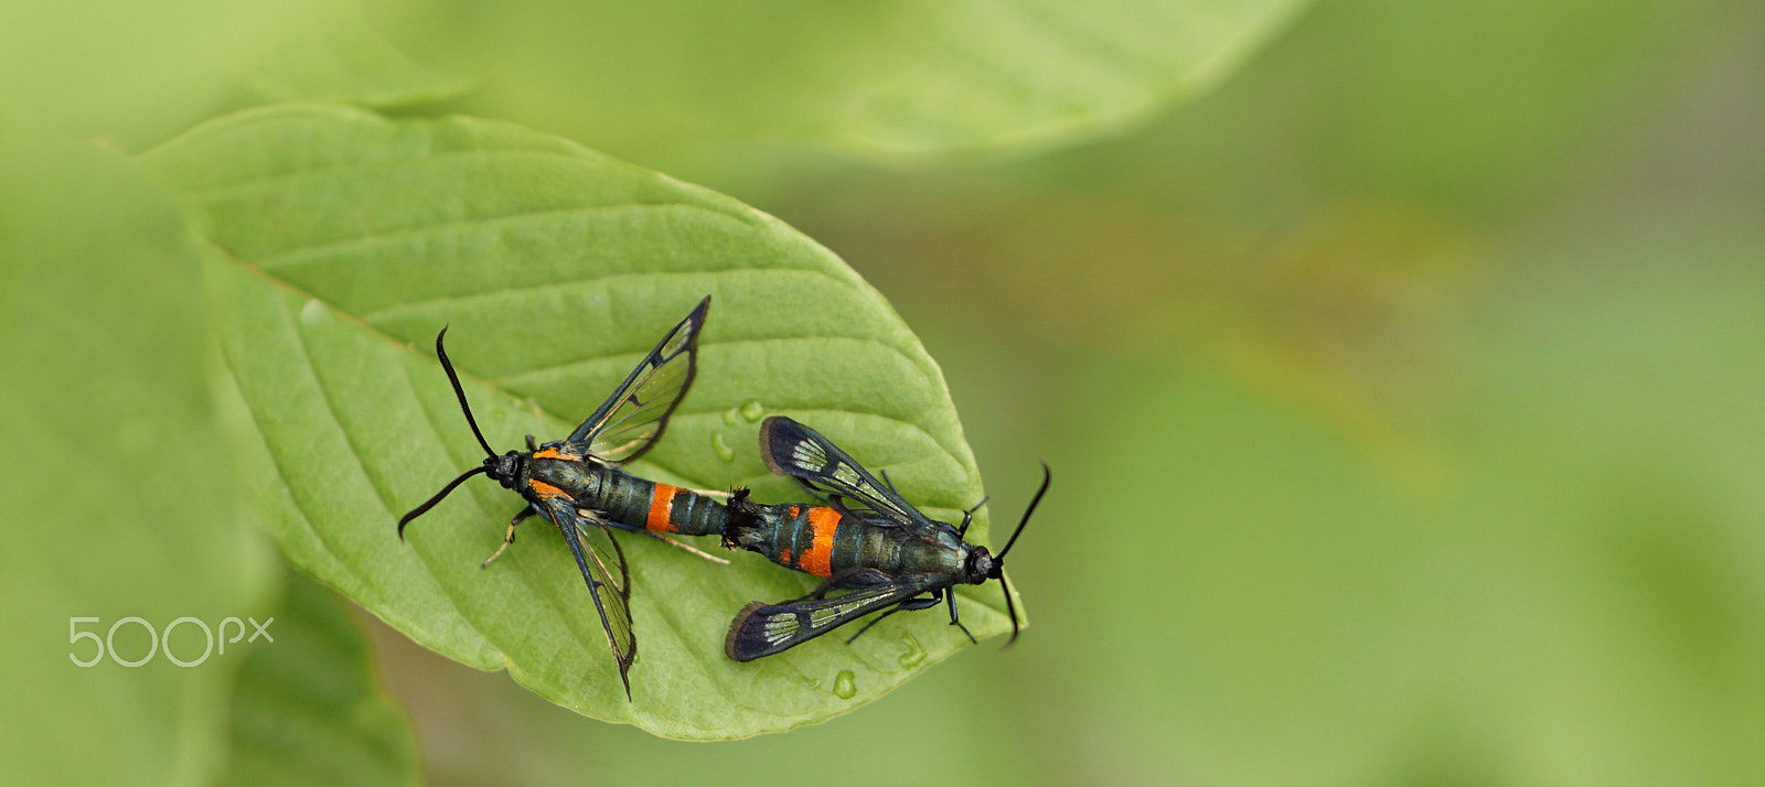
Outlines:
<svg viewBox="0 0 1765 787"><path fill-rule="evenodd" d="M706 295L563 445L609 462L628 462L650 450L699 371L699 330L710 307Z"/></svg>

